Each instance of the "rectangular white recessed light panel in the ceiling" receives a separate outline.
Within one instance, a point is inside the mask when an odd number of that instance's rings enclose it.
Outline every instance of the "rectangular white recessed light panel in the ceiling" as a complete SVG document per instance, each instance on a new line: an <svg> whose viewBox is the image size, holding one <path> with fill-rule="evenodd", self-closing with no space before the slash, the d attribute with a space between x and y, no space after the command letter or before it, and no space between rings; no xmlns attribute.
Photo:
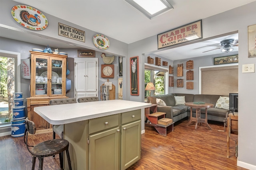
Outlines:
<svg viewBox="0 0 256 170"><path fill-rule="evenodd" d="M168 0L124 0L150 20L173 9Z"/></svg>

